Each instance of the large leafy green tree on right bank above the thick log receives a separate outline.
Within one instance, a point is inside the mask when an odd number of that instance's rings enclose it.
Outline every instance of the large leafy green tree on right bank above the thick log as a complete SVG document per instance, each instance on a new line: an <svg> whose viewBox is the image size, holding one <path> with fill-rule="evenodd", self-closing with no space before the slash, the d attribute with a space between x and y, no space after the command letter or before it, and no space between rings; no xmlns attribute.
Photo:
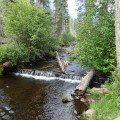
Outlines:
<svg viewBox="0 0 120 120"><path fill-rule="evenodd" d="M85 12L80 14L77 45L74 54L80 63L109 72L116 65L114 11L107 6L113 3L85 1Z"/></svg>

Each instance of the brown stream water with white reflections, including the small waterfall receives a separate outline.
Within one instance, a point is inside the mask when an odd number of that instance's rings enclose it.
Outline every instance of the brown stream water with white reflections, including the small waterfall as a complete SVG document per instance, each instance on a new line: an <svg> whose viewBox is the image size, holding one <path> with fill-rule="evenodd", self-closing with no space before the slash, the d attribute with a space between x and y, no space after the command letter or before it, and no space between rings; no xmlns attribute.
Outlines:
<svg viewBox="0 0 120 120"><path fill-rule="evenodd" d="M61 53L62 58L65 56ZM0 78L0 119L75 120L74 110L81 114L87 105L79 100L64 104L62 97L64 93L71 97L71 90L80 83L86 69L73 62L66 73L60 73L56 61L50 60Z"/></svg>

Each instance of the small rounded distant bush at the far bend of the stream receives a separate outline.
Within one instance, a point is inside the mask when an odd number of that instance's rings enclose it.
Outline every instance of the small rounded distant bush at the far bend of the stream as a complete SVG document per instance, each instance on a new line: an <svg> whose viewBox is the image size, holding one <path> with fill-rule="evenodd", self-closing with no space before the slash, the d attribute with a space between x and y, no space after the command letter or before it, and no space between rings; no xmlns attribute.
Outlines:
<svg viewBox="0 0 120 120"><path fill-rule="evenodd" d="M69 32L62 33L60 40L61 45L69 45L73 41L75 41L75 38Z"/></svg>

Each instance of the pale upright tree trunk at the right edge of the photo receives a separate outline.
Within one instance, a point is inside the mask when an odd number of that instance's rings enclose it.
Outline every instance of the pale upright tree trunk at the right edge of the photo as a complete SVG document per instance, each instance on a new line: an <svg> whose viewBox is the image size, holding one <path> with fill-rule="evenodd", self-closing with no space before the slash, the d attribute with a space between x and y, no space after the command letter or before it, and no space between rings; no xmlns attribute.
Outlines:
<svg viewBox="0 0 120 120"><path fill-rule="evenodd" d="M120 67L120 0L115 0L115 34L117 67Z"/></svg>

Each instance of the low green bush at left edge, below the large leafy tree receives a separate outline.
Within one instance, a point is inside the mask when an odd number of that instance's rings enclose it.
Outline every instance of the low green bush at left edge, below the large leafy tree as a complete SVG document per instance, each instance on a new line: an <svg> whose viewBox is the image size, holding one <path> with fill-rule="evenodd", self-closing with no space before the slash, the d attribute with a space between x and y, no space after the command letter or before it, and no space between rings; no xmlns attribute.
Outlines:
<svg viewBox="0 0 120 120"><path fill-rule="evenodd" d="M0 45L0 51L2 51L0 52L0 63L10 60L12 64L16 64L26 58L25 49L21 47L20 51L13 43Z"/></svg>

